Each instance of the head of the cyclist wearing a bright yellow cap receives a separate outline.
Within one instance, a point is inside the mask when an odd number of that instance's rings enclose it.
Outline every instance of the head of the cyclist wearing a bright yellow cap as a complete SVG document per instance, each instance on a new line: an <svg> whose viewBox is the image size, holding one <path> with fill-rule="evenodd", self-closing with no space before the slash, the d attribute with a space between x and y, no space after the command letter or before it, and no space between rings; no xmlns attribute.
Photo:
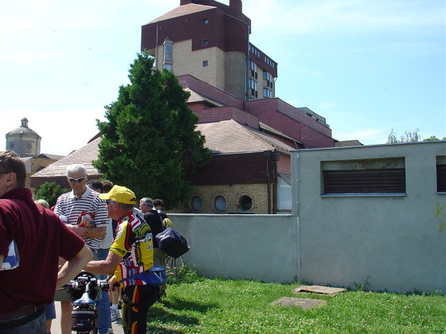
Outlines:
<svg viewBox="0 0 446 334"><path fill-rule="evenodd" d="M106 201L109 218L116 221L125 214L132 213L133 206L137 204L133 191L125 186L115 185L108 193L101 193L99 198Z"/></svg>

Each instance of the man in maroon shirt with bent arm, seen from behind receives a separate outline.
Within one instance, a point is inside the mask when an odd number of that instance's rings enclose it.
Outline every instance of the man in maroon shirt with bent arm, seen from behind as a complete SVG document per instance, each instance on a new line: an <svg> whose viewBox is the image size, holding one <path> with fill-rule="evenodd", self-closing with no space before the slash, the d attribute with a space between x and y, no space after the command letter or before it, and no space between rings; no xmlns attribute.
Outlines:
<svg viewBox="0 0 446 334"><path fill-rule="evenodd" d="M34 203L25 177L20 157L0 151L0 333L46 333L43 304L93 257L56 214ZM68 260L60 270L59 256Z"/></svg>

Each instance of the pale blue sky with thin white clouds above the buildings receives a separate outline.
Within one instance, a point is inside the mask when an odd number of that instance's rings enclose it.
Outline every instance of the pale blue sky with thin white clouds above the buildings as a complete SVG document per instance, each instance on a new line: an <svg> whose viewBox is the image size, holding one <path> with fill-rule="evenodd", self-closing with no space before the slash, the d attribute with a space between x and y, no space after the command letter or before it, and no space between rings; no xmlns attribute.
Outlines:
<svg viewBox="0 0 446 334"><path fill-rule="evenodd" d="M24 117L42 153L86 145L129 84L141 26L179 5L2 1L0 150ZM243 13L250 42L278 63L276 97L325 118L334 139L446 136L444 0L243 0Z"/></svg>

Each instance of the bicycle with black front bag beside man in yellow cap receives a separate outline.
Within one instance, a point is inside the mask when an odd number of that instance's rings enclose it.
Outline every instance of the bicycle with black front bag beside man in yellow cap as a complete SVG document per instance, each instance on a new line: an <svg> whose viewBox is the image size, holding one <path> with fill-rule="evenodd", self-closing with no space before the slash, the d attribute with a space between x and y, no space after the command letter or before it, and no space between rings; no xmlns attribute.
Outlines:
<svg viewBox="0 0 446 334"><path fill-rule="evenodd" d="M97 302L102 289L108 289L107 280L98 280L92 273L82 271L61 287L68 289L72 299L71 331L78 334L98 334Z"/></svg>

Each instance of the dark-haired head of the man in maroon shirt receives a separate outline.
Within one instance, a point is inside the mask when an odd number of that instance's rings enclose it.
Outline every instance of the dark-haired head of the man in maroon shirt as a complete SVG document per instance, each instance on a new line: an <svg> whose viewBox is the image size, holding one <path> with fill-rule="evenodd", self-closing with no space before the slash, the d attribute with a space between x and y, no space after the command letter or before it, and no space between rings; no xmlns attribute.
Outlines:
<svg viewBox="0 0 446 334"><path fill-rule="evenodd" d="M7 191L25 186L26 167L17 153L0 151L0 196Z"/></svg>

